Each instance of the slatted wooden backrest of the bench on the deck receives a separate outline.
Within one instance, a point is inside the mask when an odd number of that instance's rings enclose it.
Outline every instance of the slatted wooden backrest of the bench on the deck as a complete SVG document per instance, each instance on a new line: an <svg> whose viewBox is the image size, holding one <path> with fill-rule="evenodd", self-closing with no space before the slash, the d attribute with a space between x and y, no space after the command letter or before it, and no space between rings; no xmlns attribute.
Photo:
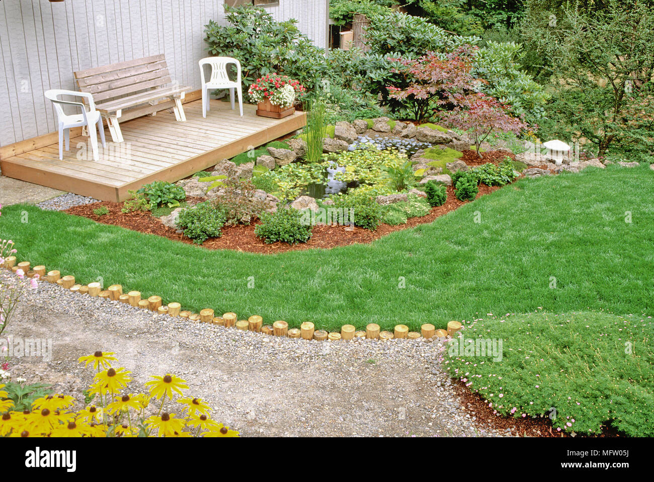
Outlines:
<svg viewBox="0 0 654 482"><path fill-rule="evenodd" d="M139 94L172 82L163 54L103 65L73 75L80 90L93 95L95 104Z"/></svg>

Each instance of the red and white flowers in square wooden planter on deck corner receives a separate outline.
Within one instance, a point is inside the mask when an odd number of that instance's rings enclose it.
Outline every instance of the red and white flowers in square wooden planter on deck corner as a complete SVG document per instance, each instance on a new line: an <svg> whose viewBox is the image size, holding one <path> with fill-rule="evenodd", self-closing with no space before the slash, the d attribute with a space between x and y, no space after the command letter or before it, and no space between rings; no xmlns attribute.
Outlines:
<svg viewBox="0 0 654 482"><path fill-rule="evenodd" d="M293 103L298 95L306 92L298 80L286 75L269 74L258 78L250 86L250 101L258 104L258 116L281 119L295 112Z"/></svg>

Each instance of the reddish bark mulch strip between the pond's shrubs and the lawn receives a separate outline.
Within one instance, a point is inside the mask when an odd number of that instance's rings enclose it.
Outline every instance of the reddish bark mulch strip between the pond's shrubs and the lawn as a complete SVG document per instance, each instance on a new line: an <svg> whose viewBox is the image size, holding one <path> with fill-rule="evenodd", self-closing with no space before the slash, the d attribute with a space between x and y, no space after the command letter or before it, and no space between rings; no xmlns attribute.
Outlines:
<svg viewBox="0 0 654 482"><path fill-rule="evenodd" d="M489 187L481 184L481 186L479 186L479 194L477 194L477 198L494 192L495 190L498 190L497 186ZM201 199L187 199L189 204L197 203L200 200ZM356 226L353 230L348 230L347 226L315 226L313 228L313 236L311 239L309 239L307 243L300 243L298 245L288 245L286 243L266 244L254 235L255 224L249 224L247 226L228 226L222 230L222 237L207 239L203 244L203 247L207 249L233 249L261 254L274 254L313 248L329 249L337 246L347 246L353 243L370 243L388 233L413 228L413 226L417 226L418 224L432 222L434 219L438 218L438 216L454 211L466 202L470 201L459 201L456 199L454 188L449 186L447 188L447 201L445 201L445 204L433 207L431 212L426 216L410 218L407 221L407 224L400 224L398 226L381 224L375 231L358 228ZM95 215L93 212L94 209L98 209L101 206L107 207L107 209L109 209L109 214L103 216ZM163 226L161 220L152 216L150 211L122 213L122 207L123 203L102 201L99 203L71 207L70 209L66 209L64 212L71 215L84 216L85 218L103 224L112 224L113 226L120 226L141 233L156 234L158 236L167 237L168 239L173 239L173 241L181 241L182 243L188 244L193 243L191 239L185 237L183 234L179 234L172 228Z"/></svg>

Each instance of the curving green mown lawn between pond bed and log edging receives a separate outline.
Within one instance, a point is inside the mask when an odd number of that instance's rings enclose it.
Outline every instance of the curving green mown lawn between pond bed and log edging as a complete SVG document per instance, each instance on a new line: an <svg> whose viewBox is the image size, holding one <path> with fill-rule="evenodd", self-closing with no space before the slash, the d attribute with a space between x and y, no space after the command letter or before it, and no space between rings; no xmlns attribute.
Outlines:
<svg viewBox="0 0 654 482"><path fill-rule="evenodd" d="M29 205L3 209L0 237L16 241L19 260L81 283L102 276L105 286L195 311L334 330L369 322L416 329L538 307L651 314L652 199L654 171L610 166L523 179L431 224L332 250L209 251Z"/></svg>

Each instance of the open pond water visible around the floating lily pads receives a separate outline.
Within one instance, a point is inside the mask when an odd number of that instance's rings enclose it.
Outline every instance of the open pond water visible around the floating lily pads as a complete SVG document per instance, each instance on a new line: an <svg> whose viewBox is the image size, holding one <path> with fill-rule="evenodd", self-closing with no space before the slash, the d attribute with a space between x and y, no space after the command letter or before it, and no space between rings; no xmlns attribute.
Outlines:
<svg viewBox="0 0 654 482"><path fill-rule="evenodd" d="M407 158L411 158L420 149L426 149L432 147L430 143L421 143L415 139L404 139L402 137L382 137L380 135L375 135L372 137L359 136L354 143L349 146L350 151L366 149L370 144L375 145L377 149L389 149L394 148L400 152L400 154L406 154ZM328 167L326 169L325 182L324 183L315 183L309 184L306 186L302 196L311 196L315 199L325 199L330 196L330 194L338 194L342 192L345 194L347 190L356 188L361 185L358 181L353 182L342 182L334 179L334 175L337 172L345 172L345 167Z"/></svg>

